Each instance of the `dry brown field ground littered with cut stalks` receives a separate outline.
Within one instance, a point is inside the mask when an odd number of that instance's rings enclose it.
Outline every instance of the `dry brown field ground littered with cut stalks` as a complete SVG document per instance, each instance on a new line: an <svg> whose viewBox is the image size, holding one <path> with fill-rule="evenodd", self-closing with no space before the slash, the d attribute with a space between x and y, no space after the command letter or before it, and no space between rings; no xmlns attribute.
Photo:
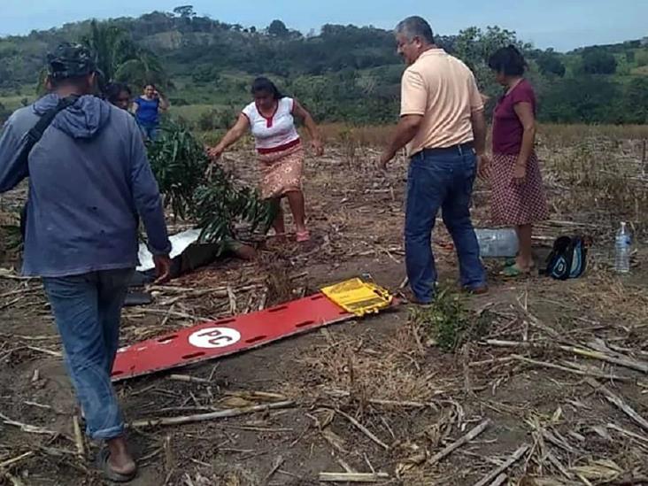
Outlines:
<svg viewBox="0 0 648 486"><path fill-rule="evenodd" d="M389 174L374 170L386 129L325 132L327 155L307 160L313 241L270 244L256 261L222 260L156 289L153 305L125 312L124 344L359 274L398 291L405 160ZM646 138L647 127L541 129L552 218L537 228L537 255L558 235L592 236L582 279L506 281L501 262L489 261L490 294L459 297L439 221L434 246L446 291L435 308L402 305L176 370L181 378L119 384L131 422L269 405L131 428L142 466L134 484L303 486L324 484L320 473L350 472L414 486L648 484ZM254 181L250 148L223 163ZM483 183L475 189L476 226L488 225L488 192ZM3 196L0 222L13 220L24 194ZM624 279L610 266L621 220L637 243ZM19 280L12 251L0 253L0 484L103 484L90 466L96 444L75 438L78 410L42 286ZM289 404L274 408L279 402Z"/></svg>

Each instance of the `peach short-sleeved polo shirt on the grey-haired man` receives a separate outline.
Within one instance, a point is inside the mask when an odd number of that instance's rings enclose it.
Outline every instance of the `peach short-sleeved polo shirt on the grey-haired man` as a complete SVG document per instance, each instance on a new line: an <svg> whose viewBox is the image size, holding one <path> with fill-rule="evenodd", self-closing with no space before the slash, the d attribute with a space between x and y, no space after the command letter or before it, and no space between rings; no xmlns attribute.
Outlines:
<svg viewBox="0 0 648 486"><path fill-rule="evenodd" d="M400 115L423 115L407 155L474 140L473 112L483 110L474 75L443 49L426 50L403 74Z"/></svg>

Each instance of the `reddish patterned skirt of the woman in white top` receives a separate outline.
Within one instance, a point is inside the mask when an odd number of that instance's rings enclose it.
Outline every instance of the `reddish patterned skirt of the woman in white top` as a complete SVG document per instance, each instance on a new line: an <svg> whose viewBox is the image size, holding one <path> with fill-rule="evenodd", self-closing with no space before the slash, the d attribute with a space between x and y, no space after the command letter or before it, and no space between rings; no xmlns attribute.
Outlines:
<svg viewBox="0 0 648 486"><path fill-rule="evenodd" d="M304 156L302 145L280 152L258 154L261 197L274 199L302 190Z"/></svg>

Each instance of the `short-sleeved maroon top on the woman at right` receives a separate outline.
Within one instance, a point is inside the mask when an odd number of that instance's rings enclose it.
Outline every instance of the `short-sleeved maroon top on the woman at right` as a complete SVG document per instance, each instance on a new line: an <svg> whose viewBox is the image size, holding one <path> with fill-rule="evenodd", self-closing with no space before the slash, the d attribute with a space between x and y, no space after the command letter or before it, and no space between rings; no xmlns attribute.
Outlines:
<svg viewBox="0 0 648 486"><path fill-rule="evenodd" d="M524 127L513 109L518 103L530 103L536 114L536 93L527 80L520 81L509 93L499 98L493 114L493 153L520 153Z"/></svg>

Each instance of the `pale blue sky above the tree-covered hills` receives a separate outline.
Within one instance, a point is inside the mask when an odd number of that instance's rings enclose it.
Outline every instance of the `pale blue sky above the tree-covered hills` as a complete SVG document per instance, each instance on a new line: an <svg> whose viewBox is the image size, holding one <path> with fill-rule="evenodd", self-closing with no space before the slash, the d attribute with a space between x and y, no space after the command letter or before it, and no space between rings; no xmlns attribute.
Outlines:
<svg viewBox="0 0 648 486"><path fill-rule="evenodd" d="M391 28L408 15L428 19L439 34L461 28L498 25L517 31L537 47L571 50L583 45L622 42L648 35L648 0L195 0L198 14L243 26L266 27L282 19L288 27L316 31L326 23ZM167 0L0 0L0 35L27 34L66 22L170 12L181 4Z"/></svg>

